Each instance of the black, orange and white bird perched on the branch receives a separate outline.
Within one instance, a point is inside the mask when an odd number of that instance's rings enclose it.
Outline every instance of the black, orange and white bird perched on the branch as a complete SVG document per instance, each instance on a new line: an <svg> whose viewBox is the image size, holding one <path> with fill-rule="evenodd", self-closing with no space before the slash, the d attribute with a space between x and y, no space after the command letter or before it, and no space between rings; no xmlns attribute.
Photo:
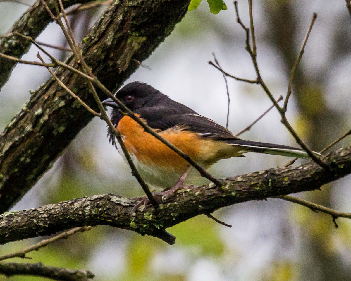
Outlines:
<svg viewBox="0 0 351 281"><path fill-rule="evenodd" d="M299 148L240 139L217 122L199 115L146 83L129 83L118 90L115 97L205 170L221 159L245 157L243 154L246 152L309 158L308 153ZM168 191L169 194L184 184L193 184L200 176L184 158L146 132L130 116L124 115L112 98L102 104L112 107L111 122L120 132L135 168L152 191L160 194ZM108 136L123 157L111 129L108 129Z"/></svg>

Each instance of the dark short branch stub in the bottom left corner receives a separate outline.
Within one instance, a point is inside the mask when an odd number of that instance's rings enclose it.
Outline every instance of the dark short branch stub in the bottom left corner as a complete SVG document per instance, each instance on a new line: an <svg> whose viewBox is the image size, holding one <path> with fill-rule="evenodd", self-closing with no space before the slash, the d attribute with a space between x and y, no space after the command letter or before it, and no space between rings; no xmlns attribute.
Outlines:
<svg viewBox="0 0 351 281"><path fill-rule="evenodd" d="M94 274L90 271L44 266L40 262L0 262L0 274L4 274L7 277L13 275L40 276L59 281L88 281L94 278Z"/></svg>

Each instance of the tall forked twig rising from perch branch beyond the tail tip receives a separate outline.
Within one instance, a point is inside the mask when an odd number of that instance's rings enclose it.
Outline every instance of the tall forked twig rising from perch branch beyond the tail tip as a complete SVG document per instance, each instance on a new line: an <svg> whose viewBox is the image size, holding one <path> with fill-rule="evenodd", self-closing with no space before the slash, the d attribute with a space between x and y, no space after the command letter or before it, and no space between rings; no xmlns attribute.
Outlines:
<svg viewBox="0 0 351 281"><path fill-rule="evenodd" d="M316 162L318 165L321 167L328 169L329 167L320 159L317 155L313 153L312 150L308 148L308 146L304 143L304 141L299 137L299 135L296 133L296 131L292 128L290 125L289 121L287 120L285 116L285 111L282 107L279 106L279 104L276 102L276 100L273 97L273 94L267 87L267 85L264 83L261 73L259 71L258 63L257 63L257 53L256 53L256 43L254 42L255 40L255 35L254 35L254 30L253 30L253 19L252 19L252 0L249 0L249 12L250 12L250 26L251 26L251 37L253 40L253 47L251 48L251 45L249 44L249 32L247 31L247 28L245 25L241 22L240 17L239 17L239 12L238 12L238 4L237 2L234 2L234 6L236 8L236 14L237 14L237 21L240 23L240 25L244 28L245 33L246 33L246 51L250 54L253 66L255 68L256 74L257 74L257 84L259 84L262 89L265 91L267 96L270 98L276 109L278 110L281 120L286 129L290 132L290 134L294 137L295 141L302 147L303 150L307 152L307 154L311 157L311 159Z"/></svg>

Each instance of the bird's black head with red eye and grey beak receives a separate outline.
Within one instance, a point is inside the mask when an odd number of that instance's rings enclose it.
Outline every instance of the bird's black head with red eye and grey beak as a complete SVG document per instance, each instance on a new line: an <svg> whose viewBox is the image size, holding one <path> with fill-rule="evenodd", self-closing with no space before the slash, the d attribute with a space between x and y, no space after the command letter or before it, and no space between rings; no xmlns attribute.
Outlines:
<svg viewBox="0 0 351 281"><path fill-rule="evenodd" d="M115 94L115 97L133 111L144 106L153 106L159 99L166 96L150 85L142 82L132 82L122 87ZM102 104L111 106L113 111L118 111L120 108L111 98L104 100Z"/></svg>

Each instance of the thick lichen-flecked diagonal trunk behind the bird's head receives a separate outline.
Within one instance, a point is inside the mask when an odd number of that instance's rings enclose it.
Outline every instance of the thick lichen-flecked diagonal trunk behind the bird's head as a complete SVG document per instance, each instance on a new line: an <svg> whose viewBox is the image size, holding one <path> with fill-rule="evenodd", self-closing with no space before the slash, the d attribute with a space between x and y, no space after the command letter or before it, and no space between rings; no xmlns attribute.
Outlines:
<svg viewBox="0 0 351 281"><path fill-rule="evenodd" d="M116 0L81 42L87 64L108 89L119 87L138 68L136 61L146 59L171 33L188 4L189 0ZM66 62L77 67L72 57ZM56 74L98 111L83 79L60 68ZM0 134L0 213L38 181L91 119L53 79L32 94Z"/></svg>

